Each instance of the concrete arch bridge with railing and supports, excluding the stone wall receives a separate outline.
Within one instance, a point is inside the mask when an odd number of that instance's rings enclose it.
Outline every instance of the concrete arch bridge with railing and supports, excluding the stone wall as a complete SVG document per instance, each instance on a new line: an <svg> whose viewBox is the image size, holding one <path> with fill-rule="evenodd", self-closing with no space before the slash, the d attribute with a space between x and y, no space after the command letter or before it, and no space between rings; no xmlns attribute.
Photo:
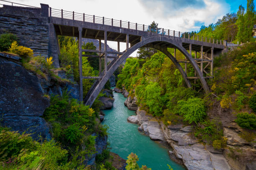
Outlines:
<svg viewBox="0 0 256 170"><path fill-rule="evenodd" d="M51 40L57 41L57 35L66 35L78 37L79 40L79 75L80 75L80 100L82 96L82 80L96 79L87 95L84 97L85 105L92 105L97 95L100 93L105 83L108 81L113 72L121 65L134 51L140 47L153 47L168 56L174 65L179 69L188 87L191 87L189 79L199 79L205 92L209 92L209 87L205 81L206 78L213 76L213 59L214 55L219 54L225 49L226 42L207 39L207 37L194 37L185 35L181 32L157 28L145 28L145 25L137 23L123 22L121 20L113 20L104 17L96 17L95 15L85 15L64 10L49 8L49 32L52 35ZM148 27L148 26L146 26ZM105 47L102 50L84 50L82 49L82 38L91 38L104 40ZM51 42L50 40L50 42ZM107 40L116 41L118 52L107 51ZM126 42L126 50L120 52L120 42ZM52 42L53 44L57 42ZM130 45L129 45L130 44ZM167 51L167 48L174 48L174 56ZM176 59L176 49L185 56L185 60L178 61ZM192 51L200 54L200 58L193 58ZM82 52L97 52L98 55L82 55ZM108 54L117 54L112 62L105 69L100 70L98 77L85 77L82 75L82 57L98 57L101 68L102 57L110 57ZM181 67L180 62L185 63L185 68ZM195 70L194 77L187 76L187 64L191 64ZM210 72L206 72L205 68L210 67ZM206 76L207 75L207 76ZM210 75L210 76L209 76Z"/></svg>

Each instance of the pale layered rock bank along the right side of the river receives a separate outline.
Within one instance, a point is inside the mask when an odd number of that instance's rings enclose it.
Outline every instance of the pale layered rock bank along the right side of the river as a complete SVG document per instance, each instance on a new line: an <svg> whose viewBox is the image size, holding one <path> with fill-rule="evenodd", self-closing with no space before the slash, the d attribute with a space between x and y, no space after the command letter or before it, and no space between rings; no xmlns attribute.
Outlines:
<svg viewBox="0 0 256 170"><path fill-rule="evenodd" d="M136 97L130 97L126 90L114 89L128 97L124 105L130 110L136 110L136 115L128 117L127 121L138 124L138 130L148 135L151 140L161 143L171 150L169 156L187 170L255 170L256 144L248 143L239 135L239 127L232 116L220 117L223 123L224 137L227 138L227 147L224 150L215 150L212 145L199 143L192 135L192 126L164 125L161 120L147 114L136 104ZM240 150L247 160L234 159L236 155L231 150ZM248 157L246 156L248 155Z"/></svg>

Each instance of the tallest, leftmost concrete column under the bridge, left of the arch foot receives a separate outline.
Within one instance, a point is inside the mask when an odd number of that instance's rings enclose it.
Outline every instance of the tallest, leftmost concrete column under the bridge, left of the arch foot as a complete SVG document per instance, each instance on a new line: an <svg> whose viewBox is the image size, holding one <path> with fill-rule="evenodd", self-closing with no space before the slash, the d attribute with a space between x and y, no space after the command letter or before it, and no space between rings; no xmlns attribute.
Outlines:
<svg viewBox="0 0 256 170"><path fill-rule="evenodd" d="M79 46L79 85L80 85L80 102L83 101L83 71L82 71L82 27L78 28L78 46Z"/></svg>

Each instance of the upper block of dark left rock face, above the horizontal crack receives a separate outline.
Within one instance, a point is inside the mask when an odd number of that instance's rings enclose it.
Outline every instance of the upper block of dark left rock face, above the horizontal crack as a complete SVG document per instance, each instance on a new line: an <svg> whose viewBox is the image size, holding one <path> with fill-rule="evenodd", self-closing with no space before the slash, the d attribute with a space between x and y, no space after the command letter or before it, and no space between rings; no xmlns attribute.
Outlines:
<svg viewBox="0 0 256 170"><path fill-rule="evenodd" d="M42 116L49 106L36 75L0 57L0 113L3 116Z"/></svg>

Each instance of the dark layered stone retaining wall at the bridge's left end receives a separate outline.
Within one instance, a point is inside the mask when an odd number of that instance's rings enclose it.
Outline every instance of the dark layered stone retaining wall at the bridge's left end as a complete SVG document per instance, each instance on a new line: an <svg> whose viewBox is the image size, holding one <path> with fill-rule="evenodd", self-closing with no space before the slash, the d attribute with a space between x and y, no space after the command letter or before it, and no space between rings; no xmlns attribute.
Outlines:
<svg viewBox="0 0 256 170"><path fill-rule="evenodd" d="M18 37L19 45L29 47L34 55L48 56L49 5L41 8L0 7L0 34L10 32Z"/></svg>

